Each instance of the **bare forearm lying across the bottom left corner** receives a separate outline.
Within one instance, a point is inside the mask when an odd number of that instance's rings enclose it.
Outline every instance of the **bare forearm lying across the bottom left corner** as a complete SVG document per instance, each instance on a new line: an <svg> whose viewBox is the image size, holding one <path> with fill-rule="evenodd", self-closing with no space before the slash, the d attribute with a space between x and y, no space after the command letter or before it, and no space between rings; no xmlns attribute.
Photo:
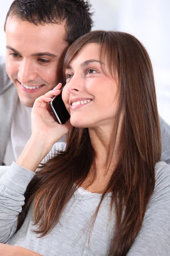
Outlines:
<svg viewBox="0 0 170 256"><path fill-rule="evenodd" d="M0 244L0 256L42 256L20 246Z"/></svg>

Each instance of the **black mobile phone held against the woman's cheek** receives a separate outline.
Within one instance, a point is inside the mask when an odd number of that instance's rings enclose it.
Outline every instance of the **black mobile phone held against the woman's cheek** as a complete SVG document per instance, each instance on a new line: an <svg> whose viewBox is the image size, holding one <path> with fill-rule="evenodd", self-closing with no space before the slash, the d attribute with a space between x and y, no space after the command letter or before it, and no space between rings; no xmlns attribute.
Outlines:
<svg viewBox="0 0 170 256"><path fill-rule="evenodd" d="M55 96L50 102L50 107L56 117L56 121L60 125L65 124L65 122L70 118L70 114L68 113L67 108L65 108L65 104L62 100L63 87L61 88L61 93Z"/></svg>

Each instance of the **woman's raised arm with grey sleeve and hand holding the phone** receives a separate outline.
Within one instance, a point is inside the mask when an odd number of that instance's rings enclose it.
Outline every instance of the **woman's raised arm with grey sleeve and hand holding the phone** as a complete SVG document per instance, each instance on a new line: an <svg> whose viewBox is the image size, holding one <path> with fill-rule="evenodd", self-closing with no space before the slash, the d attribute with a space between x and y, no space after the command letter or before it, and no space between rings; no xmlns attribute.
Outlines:
<svg viewBox="0 0 170 256"><path fill-rule="evenodd" d="M6 243L16 231L17 218L24 205L24 193L34 171L54 143L71 128L69 122L59 125L47 110L48 102L59 93L59 90L49 91L46 96L36 99L31 113L31 138L16 163L0 180L1 243Z"/></svg>

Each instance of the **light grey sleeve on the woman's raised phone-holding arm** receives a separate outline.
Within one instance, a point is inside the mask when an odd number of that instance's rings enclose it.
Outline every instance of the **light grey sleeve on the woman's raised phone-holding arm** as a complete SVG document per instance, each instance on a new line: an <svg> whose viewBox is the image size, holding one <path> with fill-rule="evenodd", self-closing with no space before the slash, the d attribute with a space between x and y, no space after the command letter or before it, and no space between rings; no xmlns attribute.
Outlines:
<svg viewBox="0 0 170 256"><path fill-rule="evenodd" d="M34 172L12 163L0 179L0 243L6 243L17 229L17 218L24 205L24 193Z"/></svg>

